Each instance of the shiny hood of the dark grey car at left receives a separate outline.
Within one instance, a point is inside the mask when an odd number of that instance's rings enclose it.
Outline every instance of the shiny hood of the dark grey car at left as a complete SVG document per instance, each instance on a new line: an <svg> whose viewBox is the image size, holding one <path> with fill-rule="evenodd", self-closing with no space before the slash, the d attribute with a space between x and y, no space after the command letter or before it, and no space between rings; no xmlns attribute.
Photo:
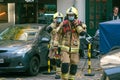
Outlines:
<svg viewBox="0 0 120 80"><path fill-rule="evenodd" d="M31 46L31 44L26 41L4 40L0 41L0 52L14 51L28 45Z"/></svg>

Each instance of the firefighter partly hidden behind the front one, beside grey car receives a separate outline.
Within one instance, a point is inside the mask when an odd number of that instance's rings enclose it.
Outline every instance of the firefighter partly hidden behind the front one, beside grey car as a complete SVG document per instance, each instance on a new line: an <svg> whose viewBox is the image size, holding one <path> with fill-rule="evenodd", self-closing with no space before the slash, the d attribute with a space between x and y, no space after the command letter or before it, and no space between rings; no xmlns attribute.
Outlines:
<svg viewBox="0 0 120 80"><path fill-rule="evenodd" d="M60 12L56 12L53 15L53 22L47 27L47 31L51 34L51 42L50 42L50 52L49 58L51 59L51 65L53 66L53 70L56 71L55 79L60 79L61 76L61 68L60 68L60 47L59 47L59 34L56 32L57 27L63 21L63 14Z"/></svg>

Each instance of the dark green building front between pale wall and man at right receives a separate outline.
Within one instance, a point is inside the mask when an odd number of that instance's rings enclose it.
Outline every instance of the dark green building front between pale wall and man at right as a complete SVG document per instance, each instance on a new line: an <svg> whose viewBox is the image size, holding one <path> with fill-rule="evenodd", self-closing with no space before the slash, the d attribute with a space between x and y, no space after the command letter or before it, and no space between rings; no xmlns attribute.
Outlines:
<svg viewBox="0 0 120 80"><path fill-rule="evenodd" d="M111 7L111 0L86 0L86 24L89 34L94 36L99 23L106 21Z"/></svg>

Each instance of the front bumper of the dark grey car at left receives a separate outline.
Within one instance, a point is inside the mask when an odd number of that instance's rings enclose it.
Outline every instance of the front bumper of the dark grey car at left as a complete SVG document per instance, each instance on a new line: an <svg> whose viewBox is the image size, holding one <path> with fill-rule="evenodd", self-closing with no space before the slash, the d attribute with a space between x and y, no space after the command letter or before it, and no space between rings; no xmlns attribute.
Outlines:
<svg viewBox="0 0 120 80"><path fill-rule="evenodd" d="M1 58L0 58L1 59ZM28 60L22 56L3 58L0 63L0 71L4 72L24 72L28 68Z"/></svg>

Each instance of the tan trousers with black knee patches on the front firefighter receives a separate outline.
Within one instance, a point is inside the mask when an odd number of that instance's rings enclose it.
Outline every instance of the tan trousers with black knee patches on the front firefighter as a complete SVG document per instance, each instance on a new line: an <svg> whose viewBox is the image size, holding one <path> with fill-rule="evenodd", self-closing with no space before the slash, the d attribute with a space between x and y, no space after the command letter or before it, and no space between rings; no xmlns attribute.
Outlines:
<svg viewBox="0 0 120 80"><path fill-rule="evenodd" d="M62 51L61 61L62 80L75 80L77 64L79 62L79 54Z"/></svg>

